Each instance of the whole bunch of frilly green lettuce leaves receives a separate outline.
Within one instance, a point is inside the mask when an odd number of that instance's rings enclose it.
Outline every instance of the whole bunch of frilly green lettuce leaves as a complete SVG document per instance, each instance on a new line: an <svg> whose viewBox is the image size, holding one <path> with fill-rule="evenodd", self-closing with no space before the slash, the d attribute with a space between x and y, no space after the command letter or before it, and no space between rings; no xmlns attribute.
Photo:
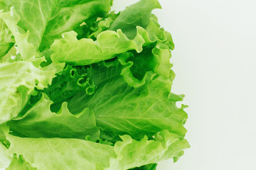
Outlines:
<svg viewBox="0 0 256 170"><path fill-rule="evenodd" d="M0 169L155 170L189 147L159 2L111 6L0 0Z"/></svg>

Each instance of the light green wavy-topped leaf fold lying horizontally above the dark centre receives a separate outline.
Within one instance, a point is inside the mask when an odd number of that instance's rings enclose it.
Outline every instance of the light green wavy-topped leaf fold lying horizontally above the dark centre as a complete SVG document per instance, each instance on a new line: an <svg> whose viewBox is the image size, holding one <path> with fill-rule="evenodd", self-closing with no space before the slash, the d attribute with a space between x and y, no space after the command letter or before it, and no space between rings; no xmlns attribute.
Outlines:
<svg viewBox="0 0 256 170"><path fill-rule="evenodd" d="M114 55L128 50L142 51L142 45L154 42L149 39L143 28L137 28L138 34L134 40L129 40L122 30L117 33L105 30L97 36L97 40L76 38L77 33L71 31L63 34L63 39L55 40L50 47L53 50L52 60L68 62L73 65L87 65L103 60L109 60Z"/></svg>

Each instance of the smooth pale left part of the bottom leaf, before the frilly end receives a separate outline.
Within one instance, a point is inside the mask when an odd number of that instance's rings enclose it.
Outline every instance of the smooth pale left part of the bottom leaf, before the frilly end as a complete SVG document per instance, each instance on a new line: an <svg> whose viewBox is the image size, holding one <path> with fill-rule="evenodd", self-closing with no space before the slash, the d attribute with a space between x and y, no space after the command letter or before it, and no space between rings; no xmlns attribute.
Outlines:
<svg viewBox="0 0 256 170"><path fill-rule="evenodd" d="M38 170L103 170L115 157L110 145L62 138L26 138L8 136L11 142L9 154L23 155L26 162Z"/></svg>

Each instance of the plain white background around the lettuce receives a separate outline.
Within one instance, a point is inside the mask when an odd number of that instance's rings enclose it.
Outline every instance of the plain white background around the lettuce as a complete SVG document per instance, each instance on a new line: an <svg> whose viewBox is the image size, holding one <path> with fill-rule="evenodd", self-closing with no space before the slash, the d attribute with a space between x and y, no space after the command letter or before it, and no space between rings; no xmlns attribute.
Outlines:
<svg viewBox="0 0 256 170"><path fill-rule="evenodd" d="M158 170L256 169L256 1L159 0L161 26L173 36L176 79L186 94L191 144ZM136 0L114 0L124 9Z"/></svg>

